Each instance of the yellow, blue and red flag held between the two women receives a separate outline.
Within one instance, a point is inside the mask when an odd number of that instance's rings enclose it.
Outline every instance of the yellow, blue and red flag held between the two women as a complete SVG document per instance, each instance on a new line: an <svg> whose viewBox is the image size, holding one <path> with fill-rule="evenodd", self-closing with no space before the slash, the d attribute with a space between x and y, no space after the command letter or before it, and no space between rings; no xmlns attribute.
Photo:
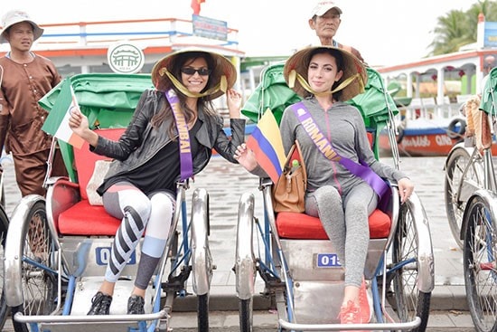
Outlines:
<svg viewBox="0 0 497 332"><path fill-rule="evenodd" d="M254 151L258 165L276 184L285 166L286 157L277 119L270 109L259 119L257 127L248 137L247 147Z"/></svg>

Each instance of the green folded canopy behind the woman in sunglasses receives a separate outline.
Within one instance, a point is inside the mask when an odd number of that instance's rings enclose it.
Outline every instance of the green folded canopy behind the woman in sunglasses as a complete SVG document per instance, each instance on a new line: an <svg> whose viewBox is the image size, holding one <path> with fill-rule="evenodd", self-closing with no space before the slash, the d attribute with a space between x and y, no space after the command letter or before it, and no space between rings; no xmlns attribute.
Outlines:
<svg viewBox="0 0 497 332"><path fill-rule="evenodd" d="M52 110L61 92L61 83L39 101L43 109ZM143 91L155 89L150 74L79 74L70 77L70 85L91 128L126 128ZM59 146L70 180L76 182L72 146L61 140Z"/></svg>

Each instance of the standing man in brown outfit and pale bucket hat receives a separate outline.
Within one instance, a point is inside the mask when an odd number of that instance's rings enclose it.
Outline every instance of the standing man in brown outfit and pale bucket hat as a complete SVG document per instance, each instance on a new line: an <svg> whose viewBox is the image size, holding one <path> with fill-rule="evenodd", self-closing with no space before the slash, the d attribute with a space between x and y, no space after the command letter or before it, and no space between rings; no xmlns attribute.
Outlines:
<svg viewBox="0 0 497 332"><path fill-rule="evenodd" d="M38 100L61 81L61 75L49 59L31 52L43 29L28 14L8 12L2 27L0 43L9 43L10 52L0 58L0 149L12 152L21 194L44 195L42 184L52 137L42 131L47 112ZM58 152L52 175L67 175Z"/></svg>

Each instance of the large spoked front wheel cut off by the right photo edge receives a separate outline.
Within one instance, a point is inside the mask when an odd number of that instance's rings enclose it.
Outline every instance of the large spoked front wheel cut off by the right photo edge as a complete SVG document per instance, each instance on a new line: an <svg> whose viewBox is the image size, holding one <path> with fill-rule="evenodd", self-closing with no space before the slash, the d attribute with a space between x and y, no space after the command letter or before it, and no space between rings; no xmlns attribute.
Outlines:
<svg viewBox="0 0 497 332"><path fill-rule="evenodd" d="M475 196L464 219L464 285L474 328L480 332L497 331L497 272L493 268L497 255L497 216L491 206L487 199Z"/></svg>

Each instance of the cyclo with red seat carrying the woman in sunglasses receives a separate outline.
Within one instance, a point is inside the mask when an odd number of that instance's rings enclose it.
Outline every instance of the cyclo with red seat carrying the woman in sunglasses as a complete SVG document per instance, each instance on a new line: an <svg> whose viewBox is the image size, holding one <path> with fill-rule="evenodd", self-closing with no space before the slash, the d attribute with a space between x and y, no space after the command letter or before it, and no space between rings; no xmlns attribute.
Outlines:
<svg viewBox="0 0 497 332"><path fill-rule="evenodd" d="M115 140L127 127L142 92L153 89L149 74L80 74L67 80L90 127ZM51 111L61 98L63 83L42 98L44 109ZM54 140L52 152L56 144ZM69 178L52 177L49 172L46 198L23 197L7 234L5 299L15 331L169 331L173 300L192 290L197 296L199 330L208 331L212 263L207 192L200 188L193 192L189 220L188 180L177 184L178 208L164 255L146 289L145 314L127 315L126 308L140 256L138 245L117 281L110 315L87 316L120 220L102 205L89 204L89 178L96 161L105 157L91 153L87 143L80 149L60 140L58 144ZM187 284L190 275L192 284Z"/></svg>

